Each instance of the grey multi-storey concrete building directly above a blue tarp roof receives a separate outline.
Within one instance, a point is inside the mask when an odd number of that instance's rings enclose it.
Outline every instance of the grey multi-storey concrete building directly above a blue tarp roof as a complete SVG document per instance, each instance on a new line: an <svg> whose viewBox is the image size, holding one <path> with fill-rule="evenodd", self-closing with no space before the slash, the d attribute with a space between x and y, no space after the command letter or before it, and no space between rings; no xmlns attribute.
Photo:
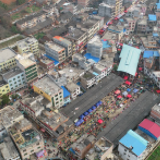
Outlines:
<svg viewBox="0 0 160 160"><path fill-rule="evenodd" d="M91 53L92 56L101 59L103 53L103 44L101 42L100 37L94 36L87 43L87 53Z"/></svg>

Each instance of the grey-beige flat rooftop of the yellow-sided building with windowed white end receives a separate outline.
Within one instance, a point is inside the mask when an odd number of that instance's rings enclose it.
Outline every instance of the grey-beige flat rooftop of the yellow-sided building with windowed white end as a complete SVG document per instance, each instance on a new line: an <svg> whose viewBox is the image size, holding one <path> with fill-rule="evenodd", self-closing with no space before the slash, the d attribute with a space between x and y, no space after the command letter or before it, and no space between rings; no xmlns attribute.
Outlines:
<svg viewBox="0 0 160 160"><path fill-rule="evenodd" d="M54 96L60 90L62 90L58 85L54 83L54 81L50 78L49 75L43 77L33 84L37 88L43 90L46 94L50 96Z"/></svg>

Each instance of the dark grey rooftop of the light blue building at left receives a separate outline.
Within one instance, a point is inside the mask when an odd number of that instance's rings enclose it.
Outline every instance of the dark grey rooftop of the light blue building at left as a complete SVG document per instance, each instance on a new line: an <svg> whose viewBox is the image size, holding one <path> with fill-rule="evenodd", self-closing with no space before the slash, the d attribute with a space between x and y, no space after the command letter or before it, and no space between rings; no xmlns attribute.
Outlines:
<svg viewBox="0 0 160 160"><path fill-rule="evenodd" d="M8 72L5 72L5 73L3 74L3 77L4 77L5 79L10 79L10 78L13 78L13 77L16 76L16 75L21 74L21 73L23 73L23 71L17 66L17 67L15 67L15 68L9 70Z"/></svg>

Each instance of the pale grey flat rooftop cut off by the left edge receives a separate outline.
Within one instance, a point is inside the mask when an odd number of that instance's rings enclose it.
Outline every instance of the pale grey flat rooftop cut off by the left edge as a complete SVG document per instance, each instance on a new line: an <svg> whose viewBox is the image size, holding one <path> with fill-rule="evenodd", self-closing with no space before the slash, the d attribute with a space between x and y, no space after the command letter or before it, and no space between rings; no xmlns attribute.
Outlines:
<svg viewBox="0 0 160 160"><path fill-rule="evenodd" d="M14 52L10 48L5 48L0 50L0 63L5 62L9 59L12 59L16 56L16 52Z"/></svg>

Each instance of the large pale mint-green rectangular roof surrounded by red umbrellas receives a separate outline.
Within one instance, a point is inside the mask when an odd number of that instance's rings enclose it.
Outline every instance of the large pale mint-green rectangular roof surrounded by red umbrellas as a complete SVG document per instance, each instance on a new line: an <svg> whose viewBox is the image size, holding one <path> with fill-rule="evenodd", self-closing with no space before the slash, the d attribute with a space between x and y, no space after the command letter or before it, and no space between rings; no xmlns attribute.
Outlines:
<svg viewBox="0 0 160 160"><path fill-rule="evenodd" d="M123 48L120 54L121 61L118 66L118 71L129 73L135 76L141 50L123 44Z"/></svg>

